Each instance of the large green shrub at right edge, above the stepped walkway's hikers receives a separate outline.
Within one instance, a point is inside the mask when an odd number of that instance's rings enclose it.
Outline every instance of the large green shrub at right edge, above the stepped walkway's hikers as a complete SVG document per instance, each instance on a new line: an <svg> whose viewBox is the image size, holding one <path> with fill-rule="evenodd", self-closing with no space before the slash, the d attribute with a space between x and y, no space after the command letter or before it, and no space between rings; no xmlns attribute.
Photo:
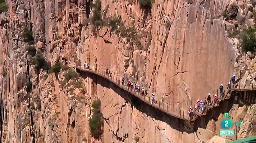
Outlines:
<svg viewBox="0 0 256 143"><path fill-rule="evenodd" d="M256 48L256 37L255 37L255 28L248 28L244 29L242 31L241 36L239 39L241 40L241 48L242 51L247 52L251 51L255 53L255 48Z"/></svg>

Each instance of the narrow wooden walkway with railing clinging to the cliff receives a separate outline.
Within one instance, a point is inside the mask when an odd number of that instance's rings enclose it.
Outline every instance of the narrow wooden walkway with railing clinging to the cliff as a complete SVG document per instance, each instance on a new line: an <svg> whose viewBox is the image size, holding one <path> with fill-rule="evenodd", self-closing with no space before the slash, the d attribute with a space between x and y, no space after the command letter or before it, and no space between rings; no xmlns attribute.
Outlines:
<svg viewBox="0 0 256 143"><path fill-rule="evenodd" d="M256 90L256 88L251 88L251 89L229 89L227 90L227 92L225 92L224 90L224 98L217 98L216 101L214 101L211 106L206 105L203 109L203 111L201 113L196 112L192 115L192 118L189 119L188 118L188 113L187 110L186 111L182 111L180 109L174 108L173 106L170 106L168 104L165 103L161 103L161 102L157 102L155 104L151 104L151 96L144 96L142 95L142 92L136 92L136 90L134 90L131 87L127 87L126 85L122 85L122 82L119 78L115 77L115 76L108 76L106 75L105 70L95 70L95 69L83 69L81 68L81 66L74 66L71 65L73 68L75 68L78 72L83 72L83 73L92 73L94 75L100 76L102 78L105 78L107 80L109 80L110 82L112 82L113 84L115 84L116 86L118 86L119 88L127 91L128 93L132 94L133 96L137 97L138 99L140 99L141 101L145 102L146 104L157 108L159 110L161 110L162 112L165 112L166 114L169 114L175 118L179 118L184 120L184 122L194 122L195 120L197 120L198 117L201 117L203 115L206 115L208 113L208 111L210 109L219 107L219 104L223 101L223 100L228 100L233 96L233 92L235 91L253 91ZM146 91L146 90L145 90Z"/></svg>

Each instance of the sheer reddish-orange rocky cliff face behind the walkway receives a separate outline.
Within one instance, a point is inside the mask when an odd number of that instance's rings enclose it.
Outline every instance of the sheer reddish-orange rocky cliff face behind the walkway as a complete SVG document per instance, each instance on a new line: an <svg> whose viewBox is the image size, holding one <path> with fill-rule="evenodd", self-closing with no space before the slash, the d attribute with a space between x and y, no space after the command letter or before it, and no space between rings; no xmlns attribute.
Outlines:
<svg viewBox="0 0 256 143"><path fill-rule="evenodd" d="M228 38L227 31L254 24L253 2L155 0L149 12L136 0L102 0L103 20L119 17L125 27L135 28L139 42L108 26L93 34L95 27L87 19L89 14L92 17L90 1L7 3L9 12L0 14L1 142L82 143L86 138L87 142L131 143L139 137L145 143L212 143L234 139L218 136L223 114L216 122L210 120L206 129L179 132L172 128L179 126L178 120L155 118L159 114L153 110L145 114L125 101L119 89L98 84L106 81L79 77L63 83L67 71L57 78L42 71L38 77L30 66L33 91L28 97L28 44L22 31L25 27L33 31L37 50L52 64L58 59L69 62L76 53L81 64L86 61L102 71L110 68L118 79L134 76L149 93L155 92L157 101L186 111L196 99L216 93L220 83L228 83L241 69L251 69L239 77L242 87L251 87L255 59L241 54L238 40ZM30 12L16 14L16 10ZM82 86L75 87L79 81ZM101 140L91 138L88 129L91 102L97 98L104 117ZM231 118L243 122L238 138L255 135L255 113L255 104L233 105Z"/></svg>

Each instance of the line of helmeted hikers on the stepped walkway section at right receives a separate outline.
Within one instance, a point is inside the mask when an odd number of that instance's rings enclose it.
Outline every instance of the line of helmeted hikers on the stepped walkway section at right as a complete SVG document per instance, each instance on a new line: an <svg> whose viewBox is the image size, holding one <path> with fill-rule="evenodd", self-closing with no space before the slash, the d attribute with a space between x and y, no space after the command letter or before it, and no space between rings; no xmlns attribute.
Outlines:
<svg viewBox="0 0 256 143"><path fill-rule="evenodd" d="M232 84L230 82L227 84L227 89L230 89L231 87L234 88L234 84L236 83L236 75L233 75L233 77L231 78L231 82ZM219 90L220 90L220 97L224 98L224 87L222 83L220 84ZM213 96L213 102L215 102L216 100L217 100L217 95L215 94ZM197 99L194 110L192 109L192 107L189 107L188 109L189 119L191 119L194 112L199 112L201 114L201 112L204 110L204 107L206 105L212 105L210 93L208 94L207 101L206 101L206 98L204 102L202 100Z"/></svg>

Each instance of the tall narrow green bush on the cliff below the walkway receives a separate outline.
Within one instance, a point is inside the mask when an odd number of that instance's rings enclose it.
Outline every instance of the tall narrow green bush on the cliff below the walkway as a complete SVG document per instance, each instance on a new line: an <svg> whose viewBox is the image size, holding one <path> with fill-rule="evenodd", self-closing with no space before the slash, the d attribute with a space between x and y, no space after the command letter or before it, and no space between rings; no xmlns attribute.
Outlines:
<svg viewBox="0 0 256 143"><path fill-rule="evenodd" d="M99 139L102 135L102 113L100 110L100 100L93 100L92 107L93 107L93 115L89 119L89 127L94 138Z"/></svg>

